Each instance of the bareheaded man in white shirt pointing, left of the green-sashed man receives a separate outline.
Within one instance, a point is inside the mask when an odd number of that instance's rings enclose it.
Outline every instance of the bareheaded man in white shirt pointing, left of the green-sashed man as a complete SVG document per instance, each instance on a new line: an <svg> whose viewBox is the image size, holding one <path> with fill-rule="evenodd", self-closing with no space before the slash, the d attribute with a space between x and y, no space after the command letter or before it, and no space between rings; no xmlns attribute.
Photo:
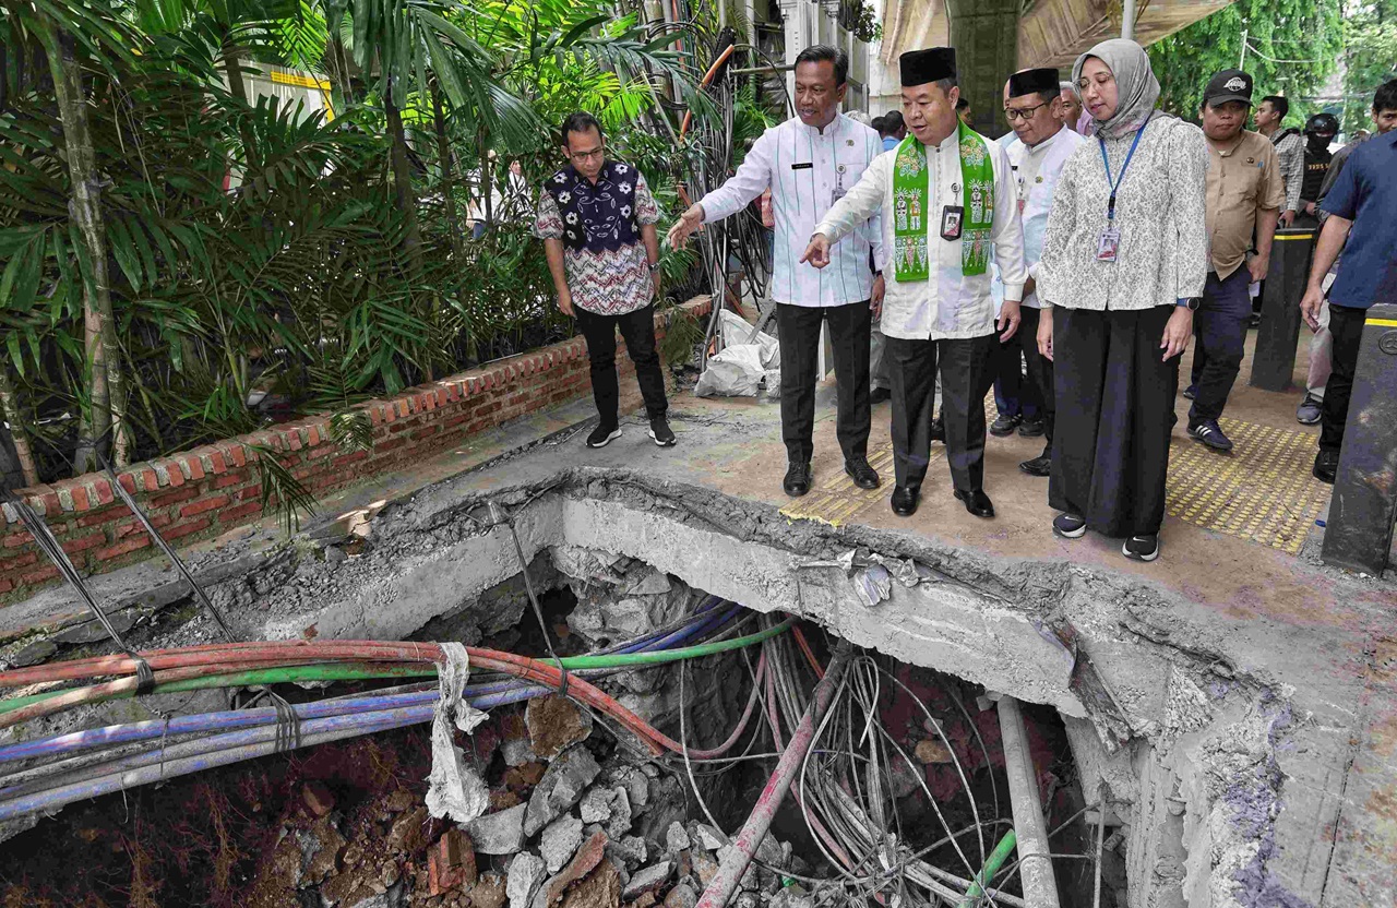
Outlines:
<svg viewBox="0 0 1397 908"><path fill-rule="evenodd" d="M869 253L883 263L883 232L875 215L856 225L849 242L824 270L802 264L816 224L844 197L883 152L876 130L840 113L849 61L842 50L813 46L795 61L796 116L763 133L738 172L690 207L669 230L679 247L704 222L738 214L767 189L775 215L771 298L781 339L781 437L787 447L787 495L810 490L814 453L814 387L820 327L830 324L838 377L835 434L844 471L863 489L876 489L868 461L869 324L883 302L883 277L869 268Z"/></svg>

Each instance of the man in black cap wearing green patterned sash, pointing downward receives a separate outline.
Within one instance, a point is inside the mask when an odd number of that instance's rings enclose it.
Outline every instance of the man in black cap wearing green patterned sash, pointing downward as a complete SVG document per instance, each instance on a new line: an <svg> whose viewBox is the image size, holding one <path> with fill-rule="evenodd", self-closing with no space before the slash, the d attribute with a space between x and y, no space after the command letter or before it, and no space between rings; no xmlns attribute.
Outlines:
<svg viewBox="0 0 1397 908"><path fill-rule="evenodd" d="M956 52L912 50L900 59L908 136L879 156L824 215L802 261L816 268L830 247L883 212L893 272L883 300L893 386L893 511L916 511L932 448L936 366L940 363L946 460L956 497L977 517L993 517L985 495L985 394L997 342L1018 330L1024 237L1009 156L956 116ZM1004 282L999 321L990 298L993 250ZM996 334L999 335L996 338Z"/></svg>

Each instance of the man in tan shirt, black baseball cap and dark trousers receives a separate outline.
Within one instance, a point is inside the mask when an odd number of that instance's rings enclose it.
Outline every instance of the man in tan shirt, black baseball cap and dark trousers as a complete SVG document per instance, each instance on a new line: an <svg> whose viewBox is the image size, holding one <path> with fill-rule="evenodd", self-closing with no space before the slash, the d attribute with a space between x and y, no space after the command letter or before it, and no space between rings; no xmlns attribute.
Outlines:
<svg viewBox="0 0 1397 908"><path fill-rule="evenodd" d="M1193 317L1199 346L1193 352L1189 436L1215 451L1232 450L1218 418L1245 353L1252 318L1248 284L1263 279L1270 268L1271 239L1285 204L1275 148L1266 137L1242 129L1250 106L1252 77L1241 70L1222 70L1203 92L1210 159L1204 218L1213 258ZM1256 254L1248 258L1253 236Z"/></svg>

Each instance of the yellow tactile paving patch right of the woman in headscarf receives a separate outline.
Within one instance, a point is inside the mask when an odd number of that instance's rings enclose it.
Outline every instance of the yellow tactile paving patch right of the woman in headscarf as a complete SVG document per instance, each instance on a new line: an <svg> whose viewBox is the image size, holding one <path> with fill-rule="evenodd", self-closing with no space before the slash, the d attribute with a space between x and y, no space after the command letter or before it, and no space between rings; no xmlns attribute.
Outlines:
<svg viewBox="0 0 1397 908"><path fill-rule="evenodd" d="M1310 475L1315 436L1221 419L1232 439L1218 454L1190 439L1169 451L1171 517L1295 555L1330 488Z"/></svg>

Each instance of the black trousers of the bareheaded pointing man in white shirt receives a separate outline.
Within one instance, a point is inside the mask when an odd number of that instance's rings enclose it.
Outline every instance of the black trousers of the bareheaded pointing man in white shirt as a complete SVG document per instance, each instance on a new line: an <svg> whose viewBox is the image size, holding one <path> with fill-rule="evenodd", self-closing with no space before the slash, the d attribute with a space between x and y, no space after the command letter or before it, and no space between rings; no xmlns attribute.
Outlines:
<svg viewBox="0 0 1397 908"><path fill-rule="evenodd" d="M781 341L781 440L787 458L809 462L814 454L814 386L820 325L830 323L834 376L840 405L835 436L844 460L868 457L869 450L869 325L868 300L847 306L791 306L777 303Z"/></svg>

